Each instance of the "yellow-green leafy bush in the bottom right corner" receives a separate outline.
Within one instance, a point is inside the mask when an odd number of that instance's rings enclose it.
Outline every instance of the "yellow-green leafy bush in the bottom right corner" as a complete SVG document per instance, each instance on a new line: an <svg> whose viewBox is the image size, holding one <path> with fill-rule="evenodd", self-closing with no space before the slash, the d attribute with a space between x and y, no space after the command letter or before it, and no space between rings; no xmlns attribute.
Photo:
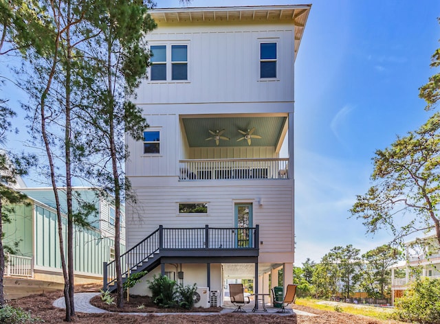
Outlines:
<svg viewBox="0 0 440 324"><path fill-rule="evenodd" d="M399 321L440 324L440 279L418 279L395 301Z"/></svg>

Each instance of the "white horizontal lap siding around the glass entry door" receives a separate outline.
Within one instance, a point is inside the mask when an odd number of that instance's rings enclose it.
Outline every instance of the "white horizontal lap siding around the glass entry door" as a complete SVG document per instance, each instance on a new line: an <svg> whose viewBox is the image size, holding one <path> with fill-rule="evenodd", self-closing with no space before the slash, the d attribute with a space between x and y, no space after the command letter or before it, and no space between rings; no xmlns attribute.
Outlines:
<svg viewBox="0 0 440 324"><path fill-rule="evenodd" d="M137 182L139 181L139 182ZM140 183L144 187L138 187ZM260 225L261 253L293 253L294 224L292 185L289 181L221 181L209 183L179 183L157 186L161 177L138 178L134 183L137 205L127 206L127 226L130 235L127 247L134 246L159 225L168 228L234 227L234 203L253 204L253 224ZM272 185L268 183L272 182ZM284 182L285 185L280 183ZM151 186L146 187L150 184ZM259 205L261 199L263 205ZM208 203L207 215L179 214L178 203ZM130 210L129 210L130 209Z"/></svg>

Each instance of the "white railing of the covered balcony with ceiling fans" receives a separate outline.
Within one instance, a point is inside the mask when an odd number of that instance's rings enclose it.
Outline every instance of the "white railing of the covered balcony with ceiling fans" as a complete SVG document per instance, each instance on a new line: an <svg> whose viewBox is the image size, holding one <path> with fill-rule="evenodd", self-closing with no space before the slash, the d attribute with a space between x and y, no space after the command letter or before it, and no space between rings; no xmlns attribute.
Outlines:
<svg viewBox="0 0 440 324"><path fill-rule="evenodd" d="M289 178L288 158L197 159L179 161L181 181Z"/></svg>

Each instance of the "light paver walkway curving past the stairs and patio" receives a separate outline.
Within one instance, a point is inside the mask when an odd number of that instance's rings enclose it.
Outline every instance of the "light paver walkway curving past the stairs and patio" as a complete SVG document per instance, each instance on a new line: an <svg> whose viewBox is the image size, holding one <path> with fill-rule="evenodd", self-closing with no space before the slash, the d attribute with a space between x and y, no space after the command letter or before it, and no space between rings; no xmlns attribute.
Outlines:
<svg viewBox="0 0 440 324"><path fill-rule="evenodd" d="M94 305L91 305L90 299L95 297L96 295L100 294L100 292L78 292L75 294L75 312L82 312L82 313L89 313L89 314L99 314L99 313L107 313L107 310L102 310L101 308L97 308ZM54 301L54 306L57 308L66 308L66 304L64 301L64 297L56 299ZM185 313L186 315L217 315L217 314L223 314L223 313L230 313L234 310L234 308L223 308L223 310L219 312L195 312L195 313ZM130 315L147 315L151 313L120 313L120 314L130 314ZM181 313L154 313L157 316L160 315L172 315L172 314L181 314ZM247 312L246 314L255 314L252 313L252 308L250 312ZM276 314L274 312L259 312L258 314ZM289 315L292 313L287 313L286 315ZM297 315L304 315L304 316L316 316L316 314L311 314L307 312L303 312L300 310L295 310L295 314ZM278 314L283 315L283 314Z"/></svg>

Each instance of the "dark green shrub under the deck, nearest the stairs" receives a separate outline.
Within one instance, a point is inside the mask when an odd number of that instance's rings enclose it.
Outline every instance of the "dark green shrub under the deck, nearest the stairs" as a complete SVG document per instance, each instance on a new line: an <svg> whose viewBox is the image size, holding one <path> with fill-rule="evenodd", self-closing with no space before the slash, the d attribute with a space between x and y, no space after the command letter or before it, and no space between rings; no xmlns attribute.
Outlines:
<svg viewBox="0 0 440 324"><path fill-rule="evenodd" d="M148 281L148 288L151 290L153 303L163 308L173 308L177 305L176 281L166 276L154 276Z"/></svg>

